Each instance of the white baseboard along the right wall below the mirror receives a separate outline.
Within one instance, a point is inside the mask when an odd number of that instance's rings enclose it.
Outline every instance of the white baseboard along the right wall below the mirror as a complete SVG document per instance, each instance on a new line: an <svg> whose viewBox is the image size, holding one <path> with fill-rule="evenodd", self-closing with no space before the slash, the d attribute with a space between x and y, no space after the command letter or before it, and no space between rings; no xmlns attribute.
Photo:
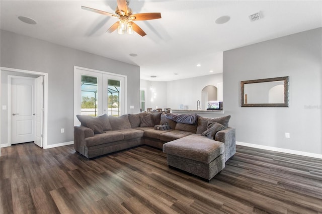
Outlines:
<svg viewBox="0 0 322 214"><path fill-rule="evenodd" d="M251 144L251 143L243 143L243 142L238 142L238 141L236 141L236 145L248 146L248 147L253 147L253 148L257 148L257 149L271 150L271 151L274 151L274 152L284 152L284 153L289 153L289 154L293 154L293 155L302 155L302 156L322 159L322 154L301 152L301 151L297 151L297 150L282 149L282 148L277 148L277 147L272 147L272 146L263 146L263 145L257 145L257 144Z"/></svg>

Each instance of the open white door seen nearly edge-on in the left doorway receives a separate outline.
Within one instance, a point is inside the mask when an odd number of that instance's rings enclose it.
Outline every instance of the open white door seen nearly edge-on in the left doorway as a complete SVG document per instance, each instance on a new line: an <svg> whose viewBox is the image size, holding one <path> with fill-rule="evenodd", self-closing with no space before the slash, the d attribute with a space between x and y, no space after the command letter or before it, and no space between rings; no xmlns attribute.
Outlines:
<svg viewBox="0 0 322 214"><path fill-rule="evenodd" d="M35 79L35 144L43 147L43 76Z"/></svg>

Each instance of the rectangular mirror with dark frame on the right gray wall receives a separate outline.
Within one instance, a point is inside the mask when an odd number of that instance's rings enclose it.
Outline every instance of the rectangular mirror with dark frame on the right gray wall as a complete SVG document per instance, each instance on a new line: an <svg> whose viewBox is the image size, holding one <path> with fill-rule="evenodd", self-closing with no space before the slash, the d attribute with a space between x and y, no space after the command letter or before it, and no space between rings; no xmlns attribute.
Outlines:
<svg viewBox="0 0 322 214"><path fill-rule="evenodd" d="M241 81L241 107L288 107L288 77Z"/></svg>

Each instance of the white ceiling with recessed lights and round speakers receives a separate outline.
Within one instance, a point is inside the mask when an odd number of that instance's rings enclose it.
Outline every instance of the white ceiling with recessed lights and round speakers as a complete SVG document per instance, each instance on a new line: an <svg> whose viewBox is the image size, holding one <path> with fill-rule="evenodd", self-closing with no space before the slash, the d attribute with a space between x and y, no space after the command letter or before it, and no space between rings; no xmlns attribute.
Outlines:
<svg viewBox="0 0 322 214"><path fill-rule="evenodd" d="M138 65L141 79L154 81L221 73L223 51L322 27L322 1L132 0L133 14L162 15L136 22L144 37L105 33L117 19L81 9L114 13L116 0L0 3L1 29ZM249 15L259 11L263 19L251 22ZM30 17L37 25L25 24L18 16ZM221 16L230 16L230 21L215 24Z"/></svg>

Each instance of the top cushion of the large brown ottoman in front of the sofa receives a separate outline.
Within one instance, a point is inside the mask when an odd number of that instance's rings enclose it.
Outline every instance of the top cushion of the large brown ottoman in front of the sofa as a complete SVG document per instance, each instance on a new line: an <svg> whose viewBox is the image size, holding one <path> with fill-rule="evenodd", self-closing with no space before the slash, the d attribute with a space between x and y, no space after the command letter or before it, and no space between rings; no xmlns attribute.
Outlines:
<svg viewBox="0 0 322 214"><path fill-rule="evenodd" d="M210 163L225 151L224 144L199 134L189 135L163 145L163 152L178 157Z"/></svg>

